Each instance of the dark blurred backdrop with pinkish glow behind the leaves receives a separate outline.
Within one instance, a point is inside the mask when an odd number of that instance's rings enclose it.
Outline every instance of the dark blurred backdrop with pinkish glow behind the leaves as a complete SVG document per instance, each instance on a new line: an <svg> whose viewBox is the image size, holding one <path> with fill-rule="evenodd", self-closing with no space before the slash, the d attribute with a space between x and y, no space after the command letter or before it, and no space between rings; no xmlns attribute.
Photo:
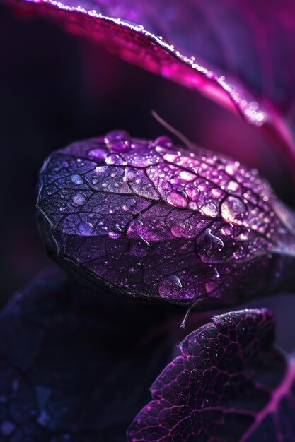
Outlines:
<svg viewBox="0 0 295 442"><path fill-rule="evenodd" d="M45 157L111 129L139 138L167 133L151 109L195 143L258 167L294 205L289 174L269 141L197 92L130 66L45 20L19 19L4 6L0 41L2 304L50 262L35 222L37 173ZM271 305L278 321L292 322L292 299L256 304ZM289 332L280 328L280 340Z"/></svg>

